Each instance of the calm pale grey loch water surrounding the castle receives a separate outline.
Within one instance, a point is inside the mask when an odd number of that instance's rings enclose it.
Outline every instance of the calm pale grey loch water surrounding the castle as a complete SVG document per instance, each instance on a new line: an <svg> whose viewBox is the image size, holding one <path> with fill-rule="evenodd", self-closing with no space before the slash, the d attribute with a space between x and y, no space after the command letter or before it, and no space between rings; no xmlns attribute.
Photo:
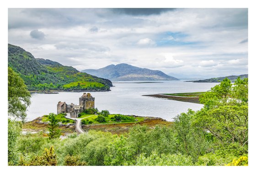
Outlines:
<svg viewBox="0 0 256 174"><path fill-rule="evenodd" d="M203 92L218 83L193 83L183 81L157 81L156 83L113 82L110 92L90 92L95 97L95 107L109 110L110 113L122 113L138 116L160 117L172 121L177 114L187 112L188 108L199 110L202 104L178 102L146 94ZM32 104L27 111L27 120L48 113L57 113L59 101L79 104L83 92L59 92L58 94L32 94Z"/></svg>

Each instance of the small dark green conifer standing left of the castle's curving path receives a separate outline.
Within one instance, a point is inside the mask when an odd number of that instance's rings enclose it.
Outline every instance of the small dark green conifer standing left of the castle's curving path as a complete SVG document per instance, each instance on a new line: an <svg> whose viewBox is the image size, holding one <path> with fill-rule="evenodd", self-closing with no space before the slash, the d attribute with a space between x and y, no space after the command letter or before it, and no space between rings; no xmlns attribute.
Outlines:
<svg viewBox="0 0 256 174"><path fill-rule="evenodd" d="M60 130L59 130L59 120L56 119L56 114L49 113L49 126L48 126L48 136L50 139L59 138L60 137Z"/></svg>

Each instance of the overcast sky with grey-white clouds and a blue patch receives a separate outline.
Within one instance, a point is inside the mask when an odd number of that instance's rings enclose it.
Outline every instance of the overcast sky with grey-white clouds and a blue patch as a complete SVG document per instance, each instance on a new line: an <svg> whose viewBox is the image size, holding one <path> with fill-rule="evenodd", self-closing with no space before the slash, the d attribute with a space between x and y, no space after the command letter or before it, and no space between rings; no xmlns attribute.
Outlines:
<svg viewBox="0 0 256 174"><path fill-rule="evenodd" d="M128 63L176 76L240 75L248 10L9 8L8 43L80 71Z"/></svg>

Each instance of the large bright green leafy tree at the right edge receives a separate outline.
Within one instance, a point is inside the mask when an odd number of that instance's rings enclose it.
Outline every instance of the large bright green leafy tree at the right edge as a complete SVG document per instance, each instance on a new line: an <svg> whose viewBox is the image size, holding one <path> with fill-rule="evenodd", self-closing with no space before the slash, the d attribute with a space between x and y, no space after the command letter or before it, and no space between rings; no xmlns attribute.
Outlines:
<svg viewBox="0 0 256 174"><path fill-rule="evenodd" d="M200 96L204 107L195 114L194 125L203 128L221 143L248 145L248 78L232 85L224 79Z"/></svg>

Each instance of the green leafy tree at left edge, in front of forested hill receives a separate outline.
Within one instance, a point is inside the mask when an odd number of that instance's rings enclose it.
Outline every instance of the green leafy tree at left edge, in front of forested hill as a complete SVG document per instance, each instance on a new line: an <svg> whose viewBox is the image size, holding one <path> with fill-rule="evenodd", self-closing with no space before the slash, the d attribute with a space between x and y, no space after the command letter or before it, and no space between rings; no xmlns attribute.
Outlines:
<svg viewBox="0 0 256 174"><path fill-rule="evenodd" d="M25 120L30 97L22 78L8 67L8 115Z"/></svg>

